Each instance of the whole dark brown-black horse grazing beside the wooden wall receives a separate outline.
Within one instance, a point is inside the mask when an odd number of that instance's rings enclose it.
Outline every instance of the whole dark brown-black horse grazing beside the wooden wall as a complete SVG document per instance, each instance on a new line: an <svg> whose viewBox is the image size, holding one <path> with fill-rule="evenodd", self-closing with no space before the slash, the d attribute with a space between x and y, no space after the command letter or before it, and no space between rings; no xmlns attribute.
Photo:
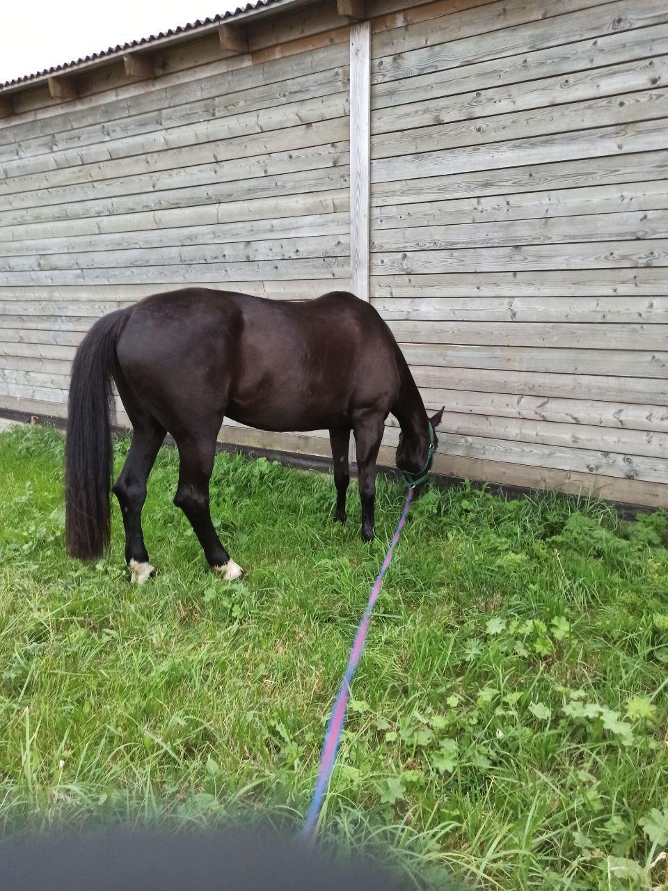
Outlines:
<svg viewBox="0 0 668 891"><path fill-rule="evenodd" d="M99 557L110 538L112 381L134 429L113 486L126 530L132 580L153 568L143 544L146 481L167 431L179 451L175 504L190 520L208 563L226 579L241 568L216 535L208 483L225 416L267 430L329 429L346 521L348 445L354 432L362 535L373 537L375 470L387 415L401 426L396 464L418 474L433 451L420 393L376 310L334 291L282 302L187 288L105 315L77 349L69 386L66 543L73 557ZM436 437L434 441L436 447Z"/></svg>

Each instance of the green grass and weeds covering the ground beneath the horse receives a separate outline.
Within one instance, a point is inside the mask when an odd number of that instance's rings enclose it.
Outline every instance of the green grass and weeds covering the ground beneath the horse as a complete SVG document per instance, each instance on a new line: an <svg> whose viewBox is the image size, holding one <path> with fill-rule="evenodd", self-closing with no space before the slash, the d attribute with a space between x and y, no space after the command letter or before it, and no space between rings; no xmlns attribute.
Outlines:
<svg viewBox="0 0 668 891"><path fill-rule="evenodd" d="M118 468L127 442L117 446ZM403 501L377 542L330 478L221 454L212 576L164 449L144 529L158 577L63 552L62 442L0 436L0 819L297 825L331 699ZM420 887L666 887L668 515L623 523L461 486L416 503L371 625L324 815Z"/></svg>

